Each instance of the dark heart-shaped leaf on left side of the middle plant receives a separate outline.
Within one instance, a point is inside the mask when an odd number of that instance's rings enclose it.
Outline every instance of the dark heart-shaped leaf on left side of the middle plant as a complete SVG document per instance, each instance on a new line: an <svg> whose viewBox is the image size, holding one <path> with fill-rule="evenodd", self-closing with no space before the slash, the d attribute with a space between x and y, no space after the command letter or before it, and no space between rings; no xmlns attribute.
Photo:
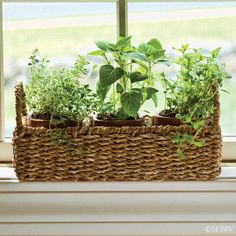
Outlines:
<svg viewBox="0 0 236 236"><path fill-rule="evenodd" d="M107 87L112 85L124 75L120 67L114 68L112 65L103 65L99 70L99 79L101 86Z"/></svg>

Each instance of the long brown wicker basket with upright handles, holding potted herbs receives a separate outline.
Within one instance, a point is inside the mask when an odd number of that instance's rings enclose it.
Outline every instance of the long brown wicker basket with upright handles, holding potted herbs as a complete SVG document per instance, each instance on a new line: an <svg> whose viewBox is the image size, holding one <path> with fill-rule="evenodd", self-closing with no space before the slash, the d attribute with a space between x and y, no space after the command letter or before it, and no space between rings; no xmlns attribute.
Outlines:
<svg viewBox="0 0 236 236"><path fill-rule="evenodd" d="M208 180L220 174L218 96L212 122L199 135L206 145L184 150L185 160L176 156L172 139L176 132L191 133L186 125L57 129L68 141L59 145L52 142L52 131L24 126L25 115L23 85L18 84L13 151L21 181Z"/></svg>

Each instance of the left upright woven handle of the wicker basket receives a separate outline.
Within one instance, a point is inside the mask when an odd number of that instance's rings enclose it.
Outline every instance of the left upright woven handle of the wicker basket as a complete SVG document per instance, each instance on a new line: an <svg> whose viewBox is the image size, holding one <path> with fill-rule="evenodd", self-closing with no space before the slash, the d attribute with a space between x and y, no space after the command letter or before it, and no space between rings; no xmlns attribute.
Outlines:
<svg viewBox="0 0 236 236"><path fill-rule="evenodd" d="M25 92L22 82L19 82L15 86L15 99L16 99L16 126L18 129L23 127L22 116L27 115L25 105Z"/></svg>

